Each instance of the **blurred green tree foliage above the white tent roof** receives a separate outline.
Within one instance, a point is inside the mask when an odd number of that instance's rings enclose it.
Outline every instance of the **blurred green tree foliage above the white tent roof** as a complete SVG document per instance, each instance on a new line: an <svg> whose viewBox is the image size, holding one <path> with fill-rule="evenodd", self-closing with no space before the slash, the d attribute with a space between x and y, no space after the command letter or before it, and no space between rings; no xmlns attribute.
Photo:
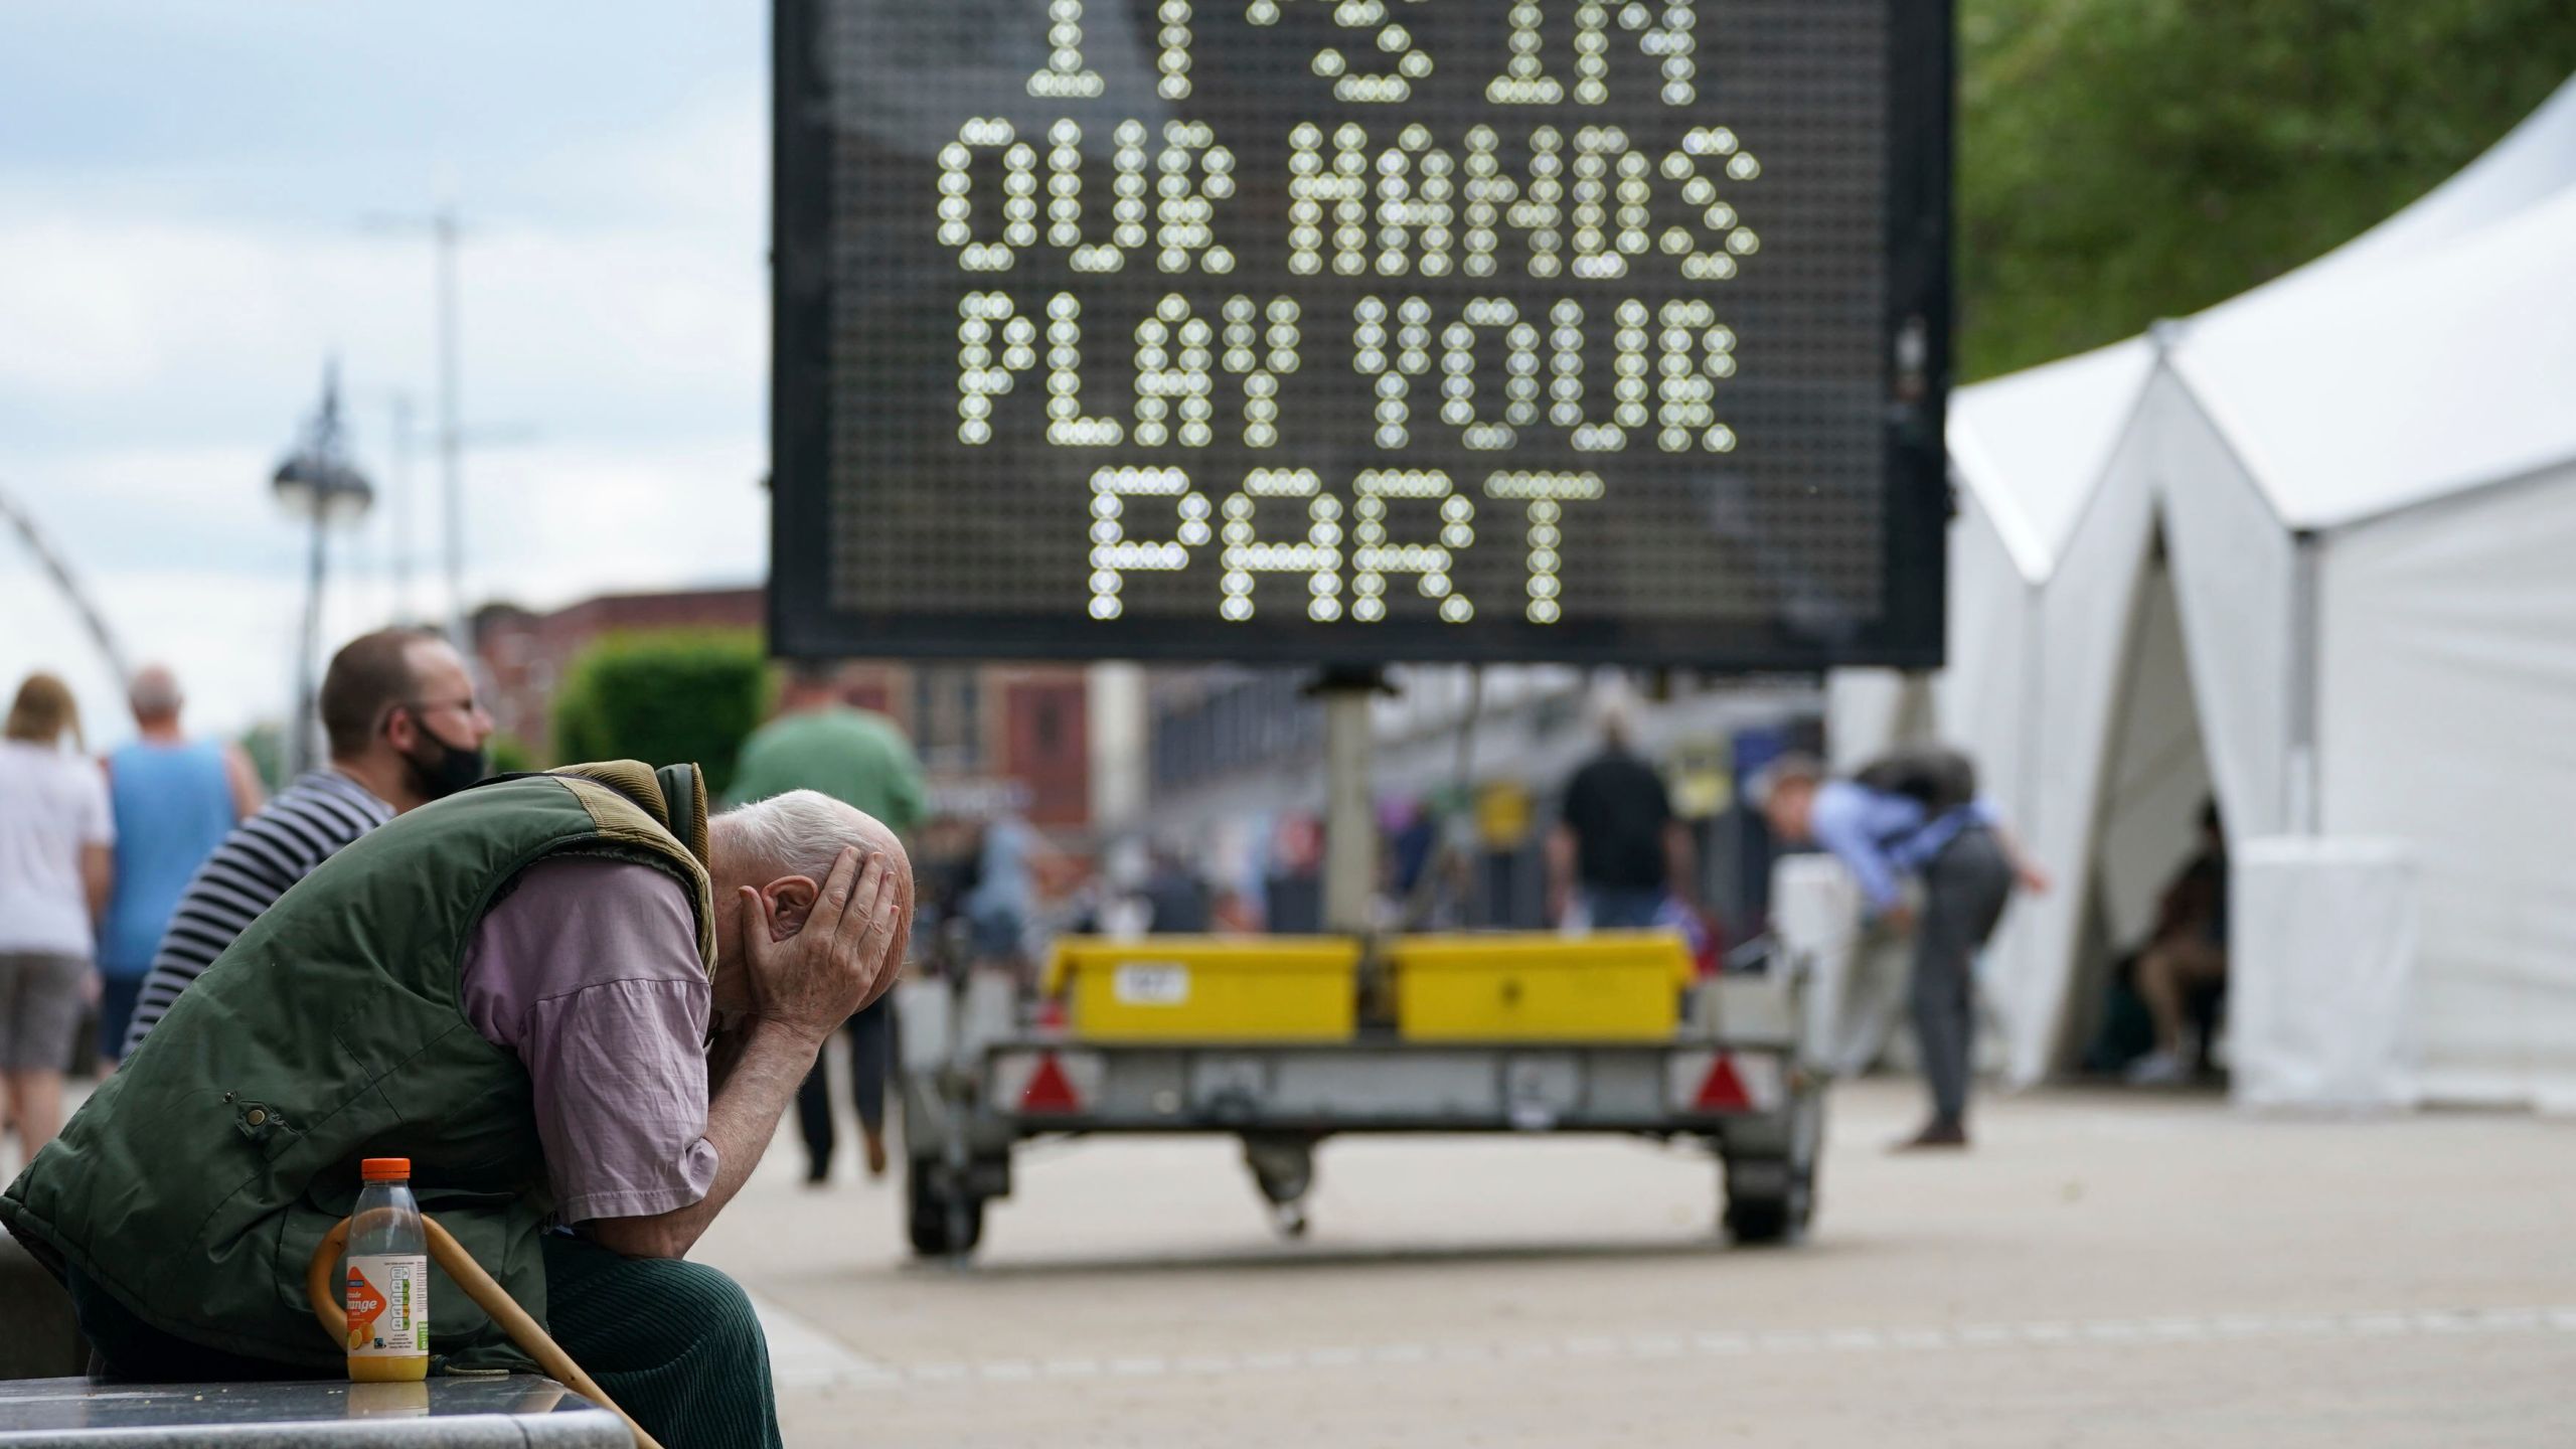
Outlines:
<svg viewBox="0 0 2576 1449"><path fill-rule="evenodd" d="M1960 376L2336 248L2571 70L2571 0L1960 0Z"/></svg>

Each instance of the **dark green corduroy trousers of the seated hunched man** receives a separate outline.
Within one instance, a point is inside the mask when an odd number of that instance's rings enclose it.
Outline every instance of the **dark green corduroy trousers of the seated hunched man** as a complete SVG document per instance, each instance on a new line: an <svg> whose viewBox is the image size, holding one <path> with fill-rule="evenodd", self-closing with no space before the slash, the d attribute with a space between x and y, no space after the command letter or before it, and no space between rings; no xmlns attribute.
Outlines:
<svg viewBox="0 0 2576 1449"><path fill-rule="evenodd" d="M309 1379L312 1369L173 1338L77 1271L80 1330L108 1377L134 1382ZM435 1310L435 1305L433 1305ZM546 1328L654 1439L685 1449L781 1449L770 1343L734 1279L677 1258L621 1258L546 1235Z"/></svg>

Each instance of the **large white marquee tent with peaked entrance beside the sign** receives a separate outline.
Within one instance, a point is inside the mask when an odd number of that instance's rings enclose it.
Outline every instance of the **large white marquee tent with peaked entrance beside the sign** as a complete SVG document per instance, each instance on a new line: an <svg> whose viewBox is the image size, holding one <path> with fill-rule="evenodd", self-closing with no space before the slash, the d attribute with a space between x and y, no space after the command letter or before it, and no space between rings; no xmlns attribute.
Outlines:
<svg viewBox="0 0 2576 1449"><path fill-rule="evenodd" d="M1950 668L1839 676L1829 724L1960 743L2058 877L1986 964L2007 1073L2069 1057L2215 794L2239 1091L2576 1109L2576 83L2336 253L1963 389L1950 456ZM2342 884L2275 890L2267 838Z"/></svg>

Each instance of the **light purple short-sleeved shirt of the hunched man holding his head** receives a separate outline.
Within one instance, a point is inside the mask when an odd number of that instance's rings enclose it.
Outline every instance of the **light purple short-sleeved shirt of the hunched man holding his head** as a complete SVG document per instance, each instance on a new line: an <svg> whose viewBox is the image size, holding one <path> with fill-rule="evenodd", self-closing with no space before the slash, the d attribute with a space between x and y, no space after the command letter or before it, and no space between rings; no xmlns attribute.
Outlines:
<svg viewBox="0 0 2576 1449"><path fill-rule="evenodd" d="M466 946L466 1018L536 1088L556 1217L649 1217L706 1196L706 967L688 895L631 861L520 871Z"/></svg>

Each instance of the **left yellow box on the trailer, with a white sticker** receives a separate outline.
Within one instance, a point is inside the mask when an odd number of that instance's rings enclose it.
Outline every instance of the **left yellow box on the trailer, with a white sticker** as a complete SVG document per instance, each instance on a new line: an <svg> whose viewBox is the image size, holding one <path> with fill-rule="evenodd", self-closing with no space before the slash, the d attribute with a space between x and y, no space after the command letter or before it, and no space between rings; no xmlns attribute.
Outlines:
<svg viewBox="0 0 2576 1449"><path fill-rule="evenodd" d="M1342 936L1056 941L1046 993L1092 1042L1347 1042L1360 944Z"/></svg>

